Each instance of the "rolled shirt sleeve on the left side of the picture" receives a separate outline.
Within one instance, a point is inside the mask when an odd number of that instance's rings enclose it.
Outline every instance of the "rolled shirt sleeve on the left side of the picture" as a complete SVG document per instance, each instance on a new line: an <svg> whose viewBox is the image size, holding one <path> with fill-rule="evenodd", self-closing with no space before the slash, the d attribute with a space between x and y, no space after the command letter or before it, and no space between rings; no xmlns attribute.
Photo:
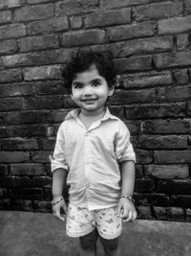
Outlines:
<svg viewBox="0 0 191 256"><path fill-rule="evenodd" d="M63 132L62 125L58 128L58 131L57 131L53 156L50 155L49 158L51 160L52 172L58 168L63 168L69 171L69 167L65 157L65 139L64 139L64 132Z"/></svg>

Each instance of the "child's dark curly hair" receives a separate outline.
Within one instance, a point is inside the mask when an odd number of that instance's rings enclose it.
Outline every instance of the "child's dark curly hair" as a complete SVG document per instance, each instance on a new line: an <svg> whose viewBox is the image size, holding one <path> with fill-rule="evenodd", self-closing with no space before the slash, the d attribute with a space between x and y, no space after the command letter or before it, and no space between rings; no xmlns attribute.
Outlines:
<svg viewBox="0 0 191 256"><path fill-rule="evenodd" d="M93 52L78 51L72 56L63 70L65 86L72 91L72 83L77 73L88 70L93 64L96 65L99 76L104 77L108 86L114 86L116 82L116 67L113 54L110 51Z"/></svg>

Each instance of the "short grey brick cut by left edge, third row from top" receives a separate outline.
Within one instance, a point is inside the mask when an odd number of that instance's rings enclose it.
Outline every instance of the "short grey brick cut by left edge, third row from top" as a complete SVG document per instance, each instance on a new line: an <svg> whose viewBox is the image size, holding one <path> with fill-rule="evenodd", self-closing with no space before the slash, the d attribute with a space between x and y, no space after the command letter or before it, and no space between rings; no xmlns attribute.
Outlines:
<svg viewBox="0 0 191 256"><path fill-rule="evenodd" d="M22 37L25 35L27 35L26 27L21 23L3 25L0 27L0 39Z"/></svg>

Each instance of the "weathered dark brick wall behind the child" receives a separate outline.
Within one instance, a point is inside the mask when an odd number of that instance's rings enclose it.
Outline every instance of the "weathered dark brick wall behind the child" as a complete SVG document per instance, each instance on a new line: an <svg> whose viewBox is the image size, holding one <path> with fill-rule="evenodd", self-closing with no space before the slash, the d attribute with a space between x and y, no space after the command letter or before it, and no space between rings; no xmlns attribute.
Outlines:
<svg viewBox="0 0 191 256"><path fill-rule="evenodd" d="M191 220L190 0L0 0L0 207L51 211L48 155L78 48L111 50L137 152L140 219ZM67 194L67 190L65 190Z"/></svg>

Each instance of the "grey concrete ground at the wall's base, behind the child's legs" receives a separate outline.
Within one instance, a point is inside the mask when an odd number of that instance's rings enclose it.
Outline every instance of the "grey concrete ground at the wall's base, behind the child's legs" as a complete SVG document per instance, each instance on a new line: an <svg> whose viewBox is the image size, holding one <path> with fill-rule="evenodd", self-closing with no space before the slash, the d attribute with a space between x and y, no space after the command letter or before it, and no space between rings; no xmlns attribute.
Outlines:
<svg viewBox="0 0 191 256"><path fill-rule="evenodd" d="M79 256L77 241L65 235L65 223L51 214L0 212L0 255ZM190 256L191 223L124 223L122 256ZM97 243L98 255L102 248Z"/></svg>

